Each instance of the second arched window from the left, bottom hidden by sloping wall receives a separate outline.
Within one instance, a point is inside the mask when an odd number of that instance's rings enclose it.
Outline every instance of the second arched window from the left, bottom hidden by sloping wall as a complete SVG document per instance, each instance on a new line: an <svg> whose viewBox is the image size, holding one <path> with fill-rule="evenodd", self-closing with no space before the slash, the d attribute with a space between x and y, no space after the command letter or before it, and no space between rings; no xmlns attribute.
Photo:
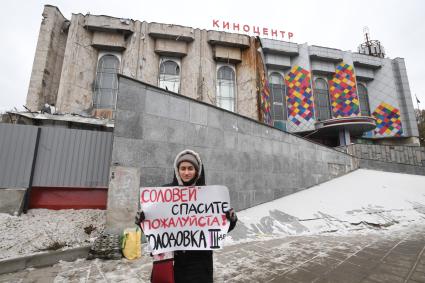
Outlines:
<svg viewBox="0 0 425 283"><path fill-rule="evenodd" d="M172 92L179 92L180 66L177 60L162 60L159 65L159 87Z"/></svg>

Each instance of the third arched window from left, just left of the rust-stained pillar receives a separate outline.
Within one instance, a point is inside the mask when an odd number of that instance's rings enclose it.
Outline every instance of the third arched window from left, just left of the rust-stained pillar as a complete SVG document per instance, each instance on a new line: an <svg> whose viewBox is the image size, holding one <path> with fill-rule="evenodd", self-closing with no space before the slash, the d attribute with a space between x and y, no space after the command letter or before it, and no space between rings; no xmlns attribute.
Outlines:
<svg viewBox="0 0 425 283"><path fill-rule="evenodd" d="M217 106L235 111L236 76L230 66L221 66L217 70Z"/></svg>

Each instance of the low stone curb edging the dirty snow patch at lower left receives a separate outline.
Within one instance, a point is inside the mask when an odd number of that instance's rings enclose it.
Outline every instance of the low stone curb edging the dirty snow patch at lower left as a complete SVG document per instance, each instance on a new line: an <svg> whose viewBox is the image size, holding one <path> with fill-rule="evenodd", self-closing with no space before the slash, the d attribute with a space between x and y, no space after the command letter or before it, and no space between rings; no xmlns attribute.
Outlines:
<svg viewBox="0 0 425 283"><path fill-rule="evenodd" d="M83 246L63 251L43 252L35 255L0 260L0 274L16 272L28 267L43 267L54 265L60 260L74 261L86 258L90 246Z"/></svg>

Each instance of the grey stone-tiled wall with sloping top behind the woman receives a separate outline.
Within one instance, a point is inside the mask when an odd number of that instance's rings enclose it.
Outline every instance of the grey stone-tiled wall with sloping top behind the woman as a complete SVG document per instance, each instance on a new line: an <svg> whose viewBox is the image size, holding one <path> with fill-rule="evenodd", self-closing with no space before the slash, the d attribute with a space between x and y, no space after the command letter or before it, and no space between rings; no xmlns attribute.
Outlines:
<svg viewBox="0 0 425 283"><path fill-rule="evenodd" d="M112 163L139 168L141 186L171 182L185 148L200 153L208 184L228 186L237 210L357 168L345 153L130 78L119 89Z"/></svg>

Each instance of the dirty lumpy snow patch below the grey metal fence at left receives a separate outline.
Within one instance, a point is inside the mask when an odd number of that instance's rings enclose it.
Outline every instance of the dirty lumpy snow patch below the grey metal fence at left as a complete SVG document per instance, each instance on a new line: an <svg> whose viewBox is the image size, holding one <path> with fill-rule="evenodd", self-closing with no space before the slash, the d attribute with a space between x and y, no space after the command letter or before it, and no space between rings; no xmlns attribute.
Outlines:
<svg viewBox="0 0 425 283"><path fill-rule="evenodd" d="M105 211L97 209L0 213L0 259L87 245L104 226Z"/></svg>

